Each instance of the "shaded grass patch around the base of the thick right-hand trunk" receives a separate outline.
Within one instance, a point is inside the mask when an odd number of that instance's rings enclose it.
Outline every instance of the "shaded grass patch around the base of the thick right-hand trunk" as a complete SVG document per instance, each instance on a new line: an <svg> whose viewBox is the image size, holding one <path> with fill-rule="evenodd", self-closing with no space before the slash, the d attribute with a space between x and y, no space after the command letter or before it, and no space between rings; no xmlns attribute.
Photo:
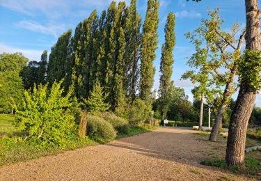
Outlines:
<svg viewBox="0 0 261 181"><path fill-rule="evenodd" d="M217 168L222 168L224 170L231 171L232 173L239 173L239 174L246 174L248 176L255 176L261 173L261 160L252 156L245 157L245 169L238 168L238 167L228 167L226 164L225 159L221 158L213 158L213 159L205 159L200 164L207 165L207 166L214 166Z"/></svg>

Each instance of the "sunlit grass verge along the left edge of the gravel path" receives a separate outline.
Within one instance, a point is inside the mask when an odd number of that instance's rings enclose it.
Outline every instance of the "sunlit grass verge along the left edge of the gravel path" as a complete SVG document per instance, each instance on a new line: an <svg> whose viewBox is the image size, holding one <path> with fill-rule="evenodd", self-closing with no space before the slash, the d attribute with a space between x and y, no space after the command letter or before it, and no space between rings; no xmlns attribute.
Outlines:
<svg viewBox="0 0 261 181"><path fill-rule="evenodd" d="M150 126L132 126L129 134L118 134L117 139L127 136L134 136L144 132L150 132L155 127ZM26 162L31 159L40 157L57 155L59 153L84 148L86 146L98 145L107 143L108 141L94 136L86 136L85 139L75 139L68 141L63 148L46 146L44 148L37 145L33 141L21 141L15 143L10 138L0 139L0 166L16 164L17 162Z"/></svg>

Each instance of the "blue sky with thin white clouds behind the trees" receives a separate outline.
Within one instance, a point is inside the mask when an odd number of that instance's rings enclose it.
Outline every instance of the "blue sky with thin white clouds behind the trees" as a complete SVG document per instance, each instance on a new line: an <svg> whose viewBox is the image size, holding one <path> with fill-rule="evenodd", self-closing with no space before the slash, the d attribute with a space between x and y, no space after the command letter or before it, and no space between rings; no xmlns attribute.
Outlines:
<svg viewBox="0 0 261 181"><path fill-rule="evenodd" d="M129 4L130 0L126 2ZM145 17L145 0L137 0L141 16ZM190 81L180 80L181 75L189 70L186 58L193 53L193 45L184 37L184 33L196 29L200 19L207 17L207 10L221 8L220 14L226 22L223 29L239 22L245 26L246 17L244 0L203 0L201 3L186 0L160 0L159 8L159 48L155 59L154 88L159 86L159 61L161 45L164 43L164 25L170 11L176 15L176 45L173 51L175 63L172 79L175 86L183 87L192 100ZM0 0L0 53L22 52L29 60L40 60L42 51L50 51L63 31L72 29L94 9L100 14L111 3L110 0ZM233 95L234 98L237 95ZM261 95L258 95L256 105L261 107Z"/></svg>

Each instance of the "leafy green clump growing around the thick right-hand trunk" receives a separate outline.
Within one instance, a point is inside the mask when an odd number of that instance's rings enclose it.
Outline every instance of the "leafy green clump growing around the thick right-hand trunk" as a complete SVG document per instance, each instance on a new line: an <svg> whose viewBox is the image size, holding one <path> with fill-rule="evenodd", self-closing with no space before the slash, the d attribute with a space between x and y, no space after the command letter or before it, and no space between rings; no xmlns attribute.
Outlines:
<svg viewBox="0 0 261 181"><path fill-rule="evenodd" d="M246 49L242 61L239 62L240 84L247 84L250 91L257 91L261 88L261 51Z"/></svg>

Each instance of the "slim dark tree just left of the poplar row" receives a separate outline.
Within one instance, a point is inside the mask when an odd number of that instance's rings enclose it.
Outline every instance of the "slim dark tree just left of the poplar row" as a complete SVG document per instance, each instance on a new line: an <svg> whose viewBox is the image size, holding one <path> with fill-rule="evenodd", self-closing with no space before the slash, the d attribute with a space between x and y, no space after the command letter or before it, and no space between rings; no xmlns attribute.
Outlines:
<svg viewBox="0 0 261 181"><path fill-rule="evenodd" d="M47 50L42 52L41 56L41 61L39 62L39 67L38 67L38 84L46 84L46 76L47 76Z"/></svg>

